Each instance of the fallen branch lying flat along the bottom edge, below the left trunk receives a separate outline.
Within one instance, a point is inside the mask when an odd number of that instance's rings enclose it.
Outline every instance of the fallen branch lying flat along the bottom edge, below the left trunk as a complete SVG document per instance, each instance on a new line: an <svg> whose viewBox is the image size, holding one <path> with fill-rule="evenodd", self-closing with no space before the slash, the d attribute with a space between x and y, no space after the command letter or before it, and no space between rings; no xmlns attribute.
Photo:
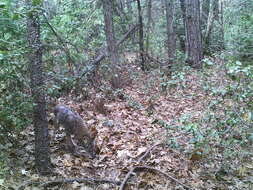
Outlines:
<svg viewBox="0 0 253 190"><path fill-rule="evenodd" d="M73 178L73 179L57 179L47 182L37 182L37 181L29 181L22 184L18 190L22 190L25 186L32 185L32 184L39 184L39 187L48 187L48 186L56 186L58 184L66 184L66 183L73 183L73 182L88 182L88 183L111 183L115 185L120 185L120 181L108 180L108 179L98 179L98 178Z"/></svg>

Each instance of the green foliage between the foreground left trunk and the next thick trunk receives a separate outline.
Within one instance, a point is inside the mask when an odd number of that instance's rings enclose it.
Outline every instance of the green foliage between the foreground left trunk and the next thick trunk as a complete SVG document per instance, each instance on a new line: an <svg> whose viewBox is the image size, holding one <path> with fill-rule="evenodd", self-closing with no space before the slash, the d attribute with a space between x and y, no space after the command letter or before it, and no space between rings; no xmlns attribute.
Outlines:
<svg viewBox="0 0 253 190"><path fill-rule="evenodd" d="M46 17L41 17L43 59L46 72L54 79L47 83L47 95L57 98L78 92L80 85L87 83L88 76L82 77L82 81L78 77L93 67L87 61L97 55L105 41L104 33L100 32L103 15L96 3L81 0L46 1L44 10Z"/></svg>

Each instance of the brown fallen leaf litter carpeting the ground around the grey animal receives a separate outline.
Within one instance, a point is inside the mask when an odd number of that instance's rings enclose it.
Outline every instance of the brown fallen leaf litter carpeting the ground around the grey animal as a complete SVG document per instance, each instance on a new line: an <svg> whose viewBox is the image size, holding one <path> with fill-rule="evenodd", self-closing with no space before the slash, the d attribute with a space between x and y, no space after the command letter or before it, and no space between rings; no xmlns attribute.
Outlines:
<svg viewBox="0 0 253 190"><path fill-rule="evenodd" d="M155 77L156 76L156 77ZM93 160L77 157L62 148L64 130L55 130L49 125L51 161L54 174L50 177L39 177L34 167L32 126L27 127L21 134L25 152L22 153L23 167L18 168L16 177L19 183L24 181L50 181L71 178L99 178L121 181L129 170L137 164L137 160L157 142L164 142L154 148L138 165L150 166L160 170L185 184L191 189L213 189L215 184L203 180L201 173L205 166L196 164L187 154L167 145L168 140L177 138L181 146L190 149L189 138L178 130L173 134L167 133L167 128L155 121L166 123L176 122L188 113L194 113L199 118L205 110L206 99L197 72L191 70L185 75L185 87L178 85L161 93L159 75L138 73L131 85L125 86L123 93L127 98L108 100L105 107L109 114L103 115L94 109L92 100L75 102L72 96L59 99L59 102L77 111L88 126L96 126L98 130L97 144L99 154ZM150 85L148 85L150 84ZM148 86L148 87L147 87ZM80 107L82 108L79 111ZM52 117L50 115L49 117ZM169 139L168 139L169 138ZM17 177L18 176L18 177ZM10 183L12 187L14 182ZM34 187L37 187L35 184ZM119 189L113 184L79 183L60 184L48 189ZM26 187L25 189L29 189ZM40 188L39 188L40 189ZM41 188L43 189L43 188ZM184 189L176 181L148 170L133 172L125 189Z"/></svg>

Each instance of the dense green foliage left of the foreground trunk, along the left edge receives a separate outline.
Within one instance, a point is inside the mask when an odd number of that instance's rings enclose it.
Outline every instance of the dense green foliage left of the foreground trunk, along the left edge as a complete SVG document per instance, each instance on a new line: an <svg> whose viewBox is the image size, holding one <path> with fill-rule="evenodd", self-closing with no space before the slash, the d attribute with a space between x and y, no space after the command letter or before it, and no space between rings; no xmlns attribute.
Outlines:
<svg viewBox="0 0 253 190"><path fill-rule="evenodd" d="M0 140L30 123L31 102L24 55L25 22L22 8L5 0L0 13ZM7 133L7 134L6 134Z"/></svg>

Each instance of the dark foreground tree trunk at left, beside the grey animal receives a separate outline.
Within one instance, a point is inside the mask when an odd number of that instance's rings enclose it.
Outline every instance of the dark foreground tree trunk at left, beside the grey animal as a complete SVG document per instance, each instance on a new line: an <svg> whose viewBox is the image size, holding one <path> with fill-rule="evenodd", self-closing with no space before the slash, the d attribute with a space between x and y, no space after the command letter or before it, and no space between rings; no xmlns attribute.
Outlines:
<svg viewBox="0 0 253 190"><path fill-rule="evenodd" d="M28 3L28 7L31 7ZM29 69L34 102L33 125L35 129L35 164L40 174L51 172L49 153L48 121L44 94L42 64L42 44L40 41L40 21L37 11L31 11L27 18L27 34L30 49Z"/></svg>

